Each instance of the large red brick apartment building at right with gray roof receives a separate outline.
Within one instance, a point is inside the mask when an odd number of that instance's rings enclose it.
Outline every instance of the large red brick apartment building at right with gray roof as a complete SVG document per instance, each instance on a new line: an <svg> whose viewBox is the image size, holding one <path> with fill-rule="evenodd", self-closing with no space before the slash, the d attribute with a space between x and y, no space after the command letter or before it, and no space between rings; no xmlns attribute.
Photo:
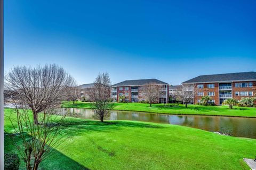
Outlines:
<svg viewBox="0 0 256 170"><path fill-rule="evenodd" d="M241 100L256 97L256 72L237 72L229 74L203 75L182 83L183 90L194 93L194 103L202 96L209 95L217 105L229 98Z"/></svg>

